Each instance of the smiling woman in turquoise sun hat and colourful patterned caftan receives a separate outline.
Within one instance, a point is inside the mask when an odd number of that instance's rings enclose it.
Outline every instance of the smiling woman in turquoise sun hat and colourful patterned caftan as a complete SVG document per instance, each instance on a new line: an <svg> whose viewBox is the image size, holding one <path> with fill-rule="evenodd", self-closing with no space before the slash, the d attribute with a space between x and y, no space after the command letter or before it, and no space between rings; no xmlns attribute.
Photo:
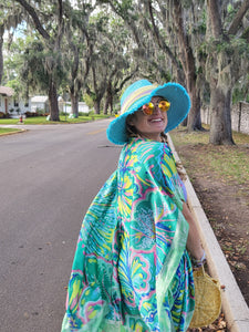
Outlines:
<svg viewBox="0 0 249 332"><path fill-rule="evenodd" d="M133 83L107 128L118 167L83 220L62 331L186 331L205 258L166 132L188 114L176 83Z"/></svg>

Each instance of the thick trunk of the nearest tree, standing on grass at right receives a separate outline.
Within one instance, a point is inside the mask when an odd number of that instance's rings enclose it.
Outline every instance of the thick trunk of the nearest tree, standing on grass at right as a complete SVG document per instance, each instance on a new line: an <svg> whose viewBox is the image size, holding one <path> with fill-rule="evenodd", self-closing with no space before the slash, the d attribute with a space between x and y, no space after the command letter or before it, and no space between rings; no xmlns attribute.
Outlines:
<svg viewBox="0 0 249 332"><path fill-rule="evenodd" d="M232 49L218 50L220 42L227 42L222 33L220 1L207 1L208 21L212 38L212 51L207 56L206 76L210 85L210 136L209 142L215 145L232 145L231 131L231 93L234 86L235 63L232 64Z"/></svg>

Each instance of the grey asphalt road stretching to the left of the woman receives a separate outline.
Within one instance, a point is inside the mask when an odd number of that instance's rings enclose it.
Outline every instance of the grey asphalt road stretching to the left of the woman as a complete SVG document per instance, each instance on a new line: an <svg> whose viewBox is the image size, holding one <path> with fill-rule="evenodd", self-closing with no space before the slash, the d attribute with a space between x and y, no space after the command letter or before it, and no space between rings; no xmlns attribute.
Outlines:
<svg viewBox="0 0 249 332"><path fill-rule="evenodd" d="M108 122L0 137L0 331L61 331L82 219L121 152Z"/></svg>

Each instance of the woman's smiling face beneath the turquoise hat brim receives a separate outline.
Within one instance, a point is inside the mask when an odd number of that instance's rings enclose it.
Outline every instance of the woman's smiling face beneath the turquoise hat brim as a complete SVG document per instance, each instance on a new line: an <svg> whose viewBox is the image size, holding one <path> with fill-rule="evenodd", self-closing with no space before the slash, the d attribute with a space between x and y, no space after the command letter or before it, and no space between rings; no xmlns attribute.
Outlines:
<svg viewBox="0 0 249 332"><path fill-rule="evenodd" d="M143 111L133 114L128 124L136 127L137 133L144 137L160 142L160 133L165 131L168 120L167 112L162 112L158 103L164 100L160 96L152 97L151 102L155 105L152 115L145 115Z"/></svg>

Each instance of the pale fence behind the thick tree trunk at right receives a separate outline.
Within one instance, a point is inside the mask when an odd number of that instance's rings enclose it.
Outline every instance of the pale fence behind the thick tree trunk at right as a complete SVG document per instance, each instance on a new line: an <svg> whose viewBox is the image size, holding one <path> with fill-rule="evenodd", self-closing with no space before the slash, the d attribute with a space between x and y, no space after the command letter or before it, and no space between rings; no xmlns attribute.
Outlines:
<svg viewBox="0 0 249 332"><path fill-rule="evenodd" d="M201 122L210 124L210 110L201 108ZM231 108L231 128L249 135L249 103L239 102Z"/></svg>

